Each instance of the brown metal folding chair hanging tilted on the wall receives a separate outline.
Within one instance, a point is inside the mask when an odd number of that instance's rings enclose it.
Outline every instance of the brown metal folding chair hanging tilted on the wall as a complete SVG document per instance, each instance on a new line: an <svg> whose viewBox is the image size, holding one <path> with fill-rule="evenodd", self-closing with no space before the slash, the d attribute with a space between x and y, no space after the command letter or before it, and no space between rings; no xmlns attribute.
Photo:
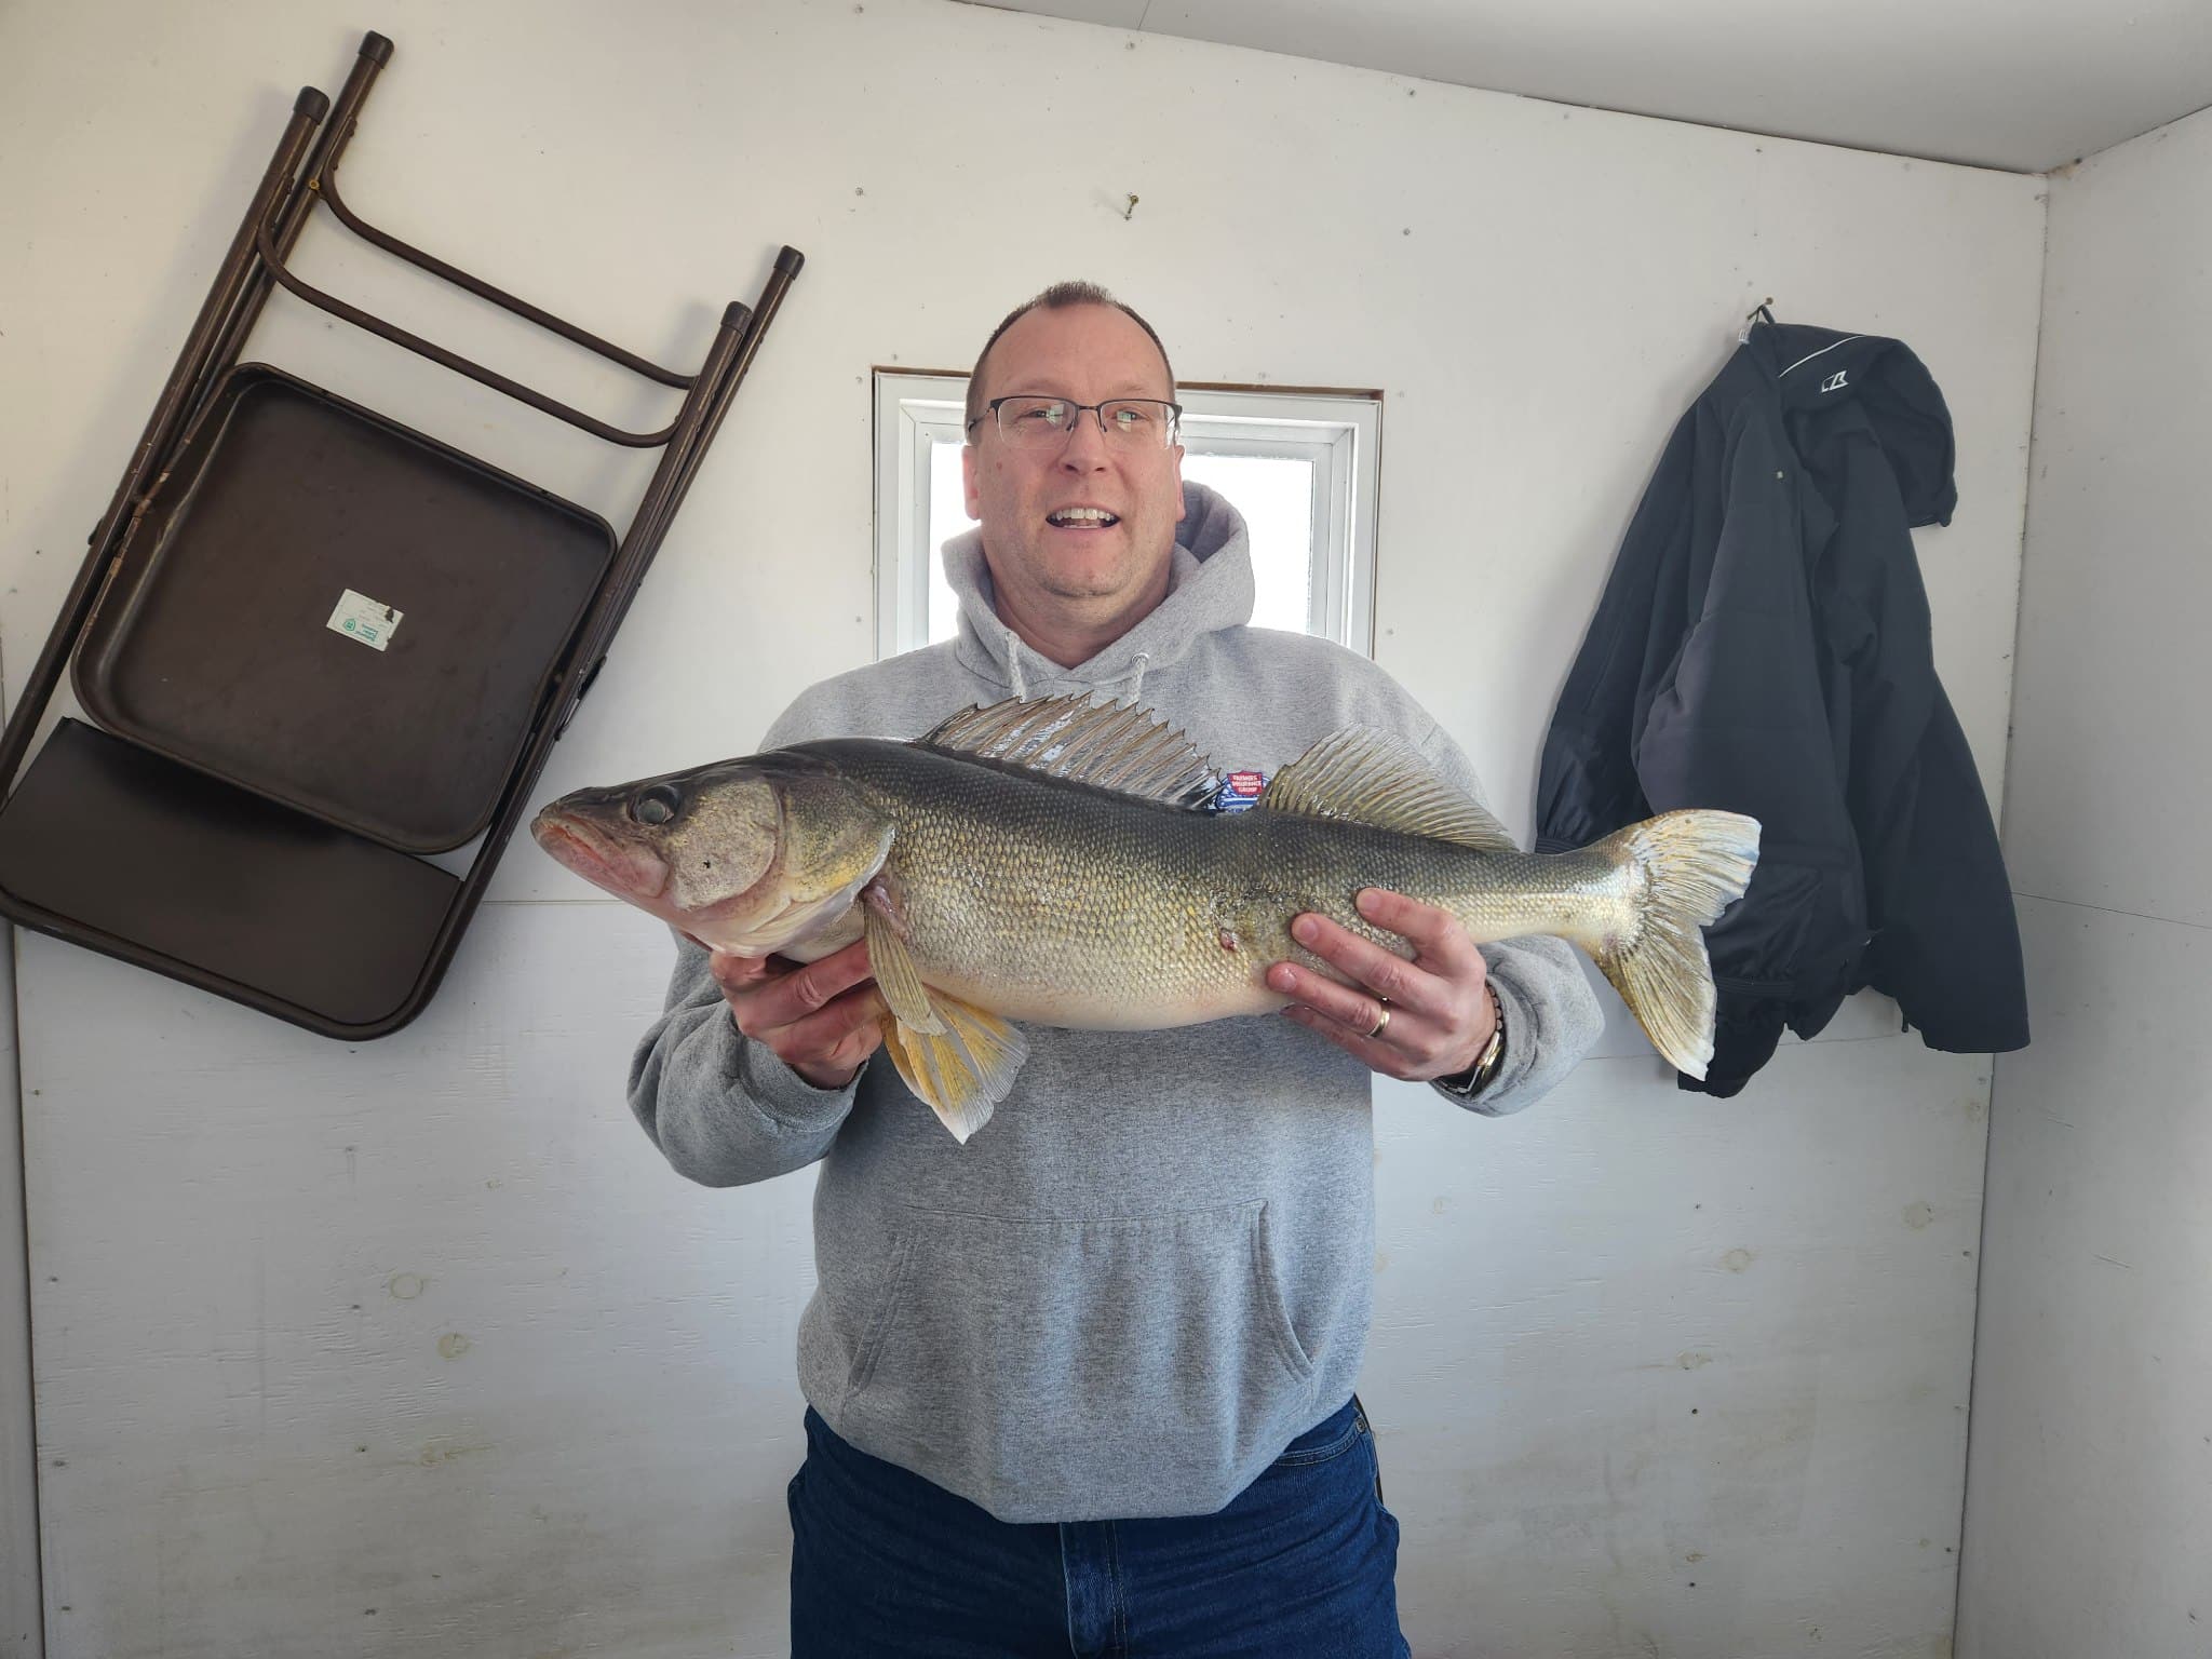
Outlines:
<svg viewBox="0 0 2212 1659"><path fill-rule="evenodd" d="M363 223L338 159L392 42L307 86L0 734L0 914L330 1037L438 989L500 852L803 257L695 374L608 345ZM327 119L325 119L327 117ZM303 166L305 157L305 166ZM316 201L374 246L684 394L622 431L285 268ZM283 369L270 290L613 445L657 447L630 526ZM97 726L62 719L64 666ZM22 772L18 781L18 772ZM476 841L465 874L422 854Z"/></svg>

